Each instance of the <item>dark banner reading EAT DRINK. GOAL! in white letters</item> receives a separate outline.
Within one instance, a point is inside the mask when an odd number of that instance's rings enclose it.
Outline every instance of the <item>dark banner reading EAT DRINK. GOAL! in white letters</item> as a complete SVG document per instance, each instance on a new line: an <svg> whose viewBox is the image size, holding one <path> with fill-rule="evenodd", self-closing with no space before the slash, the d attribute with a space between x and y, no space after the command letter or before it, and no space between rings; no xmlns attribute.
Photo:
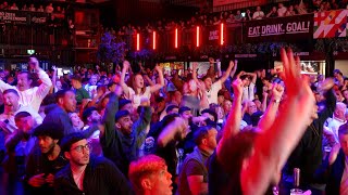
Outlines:
<svg viewBox="0 0 348 195"><path fill-rule="evenodd" d="M246 42L312 39L313 14L246 22L244 35Z"/></svg>

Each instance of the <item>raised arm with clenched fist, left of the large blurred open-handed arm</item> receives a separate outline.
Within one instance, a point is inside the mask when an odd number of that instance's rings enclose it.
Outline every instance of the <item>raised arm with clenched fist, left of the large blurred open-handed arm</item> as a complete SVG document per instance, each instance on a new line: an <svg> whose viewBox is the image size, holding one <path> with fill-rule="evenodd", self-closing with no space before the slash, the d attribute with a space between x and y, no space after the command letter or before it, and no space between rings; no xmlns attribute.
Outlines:
<svg viewBox="0 0 348 195"><path fill-rule="evenodd" d="M225 145L225 142L227 142L229 138L236 135L240 130L243 82L239 78L233 82L233 91L235 99L233 101L226 125L223 129L223 136L216 147L217 158L221 153L221 148Z"/></svg>

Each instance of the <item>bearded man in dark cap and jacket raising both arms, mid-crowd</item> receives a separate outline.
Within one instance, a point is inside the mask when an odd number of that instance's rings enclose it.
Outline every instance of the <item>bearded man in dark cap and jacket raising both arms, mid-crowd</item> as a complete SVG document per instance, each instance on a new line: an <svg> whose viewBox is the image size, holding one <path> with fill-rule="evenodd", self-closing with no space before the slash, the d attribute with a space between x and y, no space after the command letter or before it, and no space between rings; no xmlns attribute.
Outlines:
<svg viewBox="0 0 348 195"><path fill-rule="evenodd" d="M138 158L138 148L147 136L147 126L151 120L151 107L148 102L142 102L138 107L139 119L134 125L128 110L117 112L117 109L119 98L115 93L111 93L102 119L105 128L100 131L100 144L103 155L127 176L129 164Z"/></svg>

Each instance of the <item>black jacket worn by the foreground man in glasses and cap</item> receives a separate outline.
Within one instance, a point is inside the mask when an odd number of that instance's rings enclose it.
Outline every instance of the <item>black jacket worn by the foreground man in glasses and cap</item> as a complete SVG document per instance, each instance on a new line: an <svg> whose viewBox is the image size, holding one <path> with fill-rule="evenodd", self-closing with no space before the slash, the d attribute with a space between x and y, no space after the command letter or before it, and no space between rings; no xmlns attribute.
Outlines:
<svg viewBox="0 0 348 195"><path fill-rule="evenodd" d="M134 194L119 168L103 157L90 157L84 176L84 191L77 187L71 167L67 165L55 174L54 193L57 195Z"/></svg>

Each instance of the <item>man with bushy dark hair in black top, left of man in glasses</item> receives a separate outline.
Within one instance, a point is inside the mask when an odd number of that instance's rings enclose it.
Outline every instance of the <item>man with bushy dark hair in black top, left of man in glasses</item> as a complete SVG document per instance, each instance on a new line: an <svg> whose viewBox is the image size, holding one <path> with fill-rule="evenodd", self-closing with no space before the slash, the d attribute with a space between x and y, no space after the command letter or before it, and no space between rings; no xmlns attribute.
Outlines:
<svg viewBox="0 0 348 195"><path fill-rule="evenodd" d="M26 162L27 192L53 194L54 174L67 164L58 144L63 138L63 129L58 123L42 123L33 134L37 136L39 147L34 148Z"/></svg>

